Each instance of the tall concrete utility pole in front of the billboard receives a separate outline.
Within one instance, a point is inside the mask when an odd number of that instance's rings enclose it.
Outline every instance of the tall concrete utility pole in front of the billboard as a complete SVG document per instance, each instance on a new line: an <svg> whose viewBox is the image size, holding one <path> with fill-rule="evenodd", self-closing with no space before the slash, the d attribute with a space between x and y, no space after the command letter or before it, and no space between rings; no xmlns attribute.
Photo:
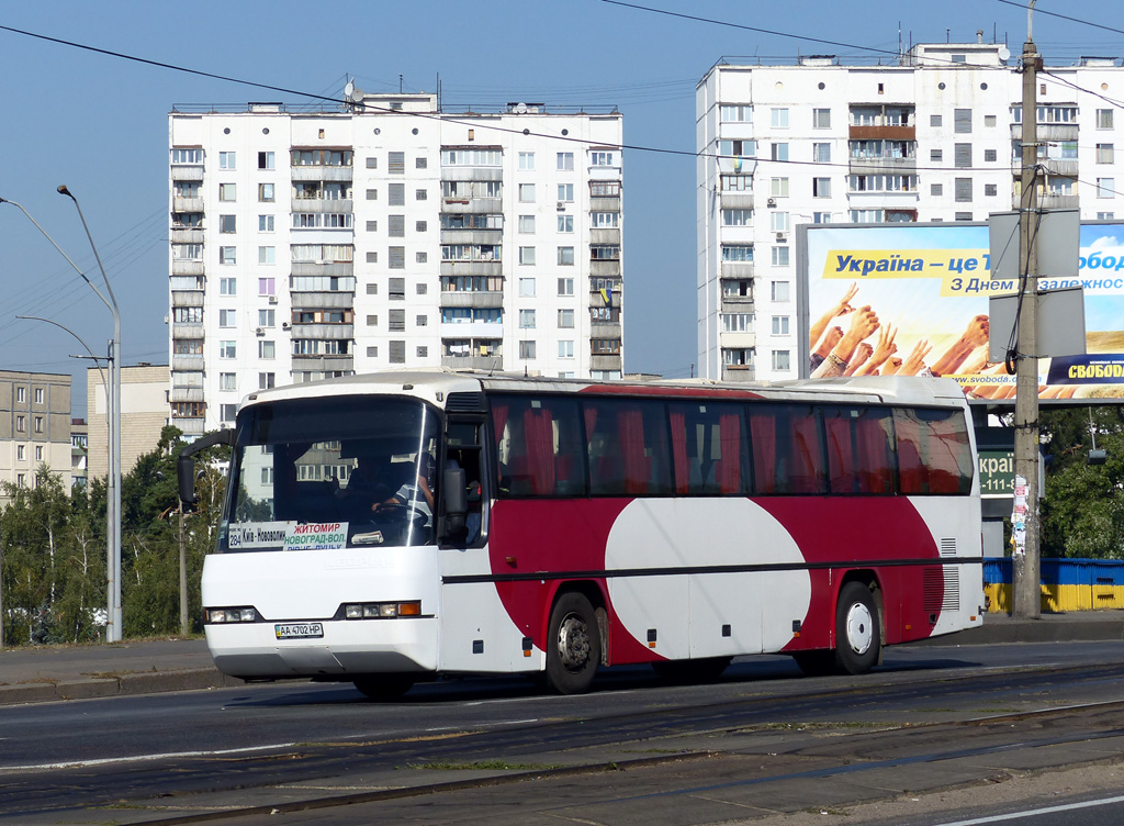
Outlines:
<svg viewBox="0 0 1124 826"><path fill-rule="evenodd" d="M1035 317L1039 298L1037 228L1037 70L1042 62L1034 46L1031 15L1026 12L1023 44L1023 176L1018 215L1018 262L1023 275L1018 312L1015 397L1015 500L1025 502L1024 530L1015 514L1014 613L1037 619L1041 611L1039 563L1039 357ZM1009 369L1009 368L1008 368ZM1023 496L1019 495L1019 488ZM1021 536L1022 535L1022 536Z"/></svg>

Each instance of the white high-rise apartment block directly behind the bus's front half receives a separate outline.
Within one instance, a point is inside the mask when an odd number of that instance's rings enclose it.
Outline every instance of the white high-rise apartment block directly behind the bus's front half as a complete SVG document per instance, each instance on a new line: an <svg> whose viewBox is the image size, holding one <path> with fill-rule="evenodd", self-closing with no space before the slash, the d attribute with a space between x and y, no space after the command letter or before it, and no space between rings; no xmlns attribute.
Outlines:
<svg viewBox="0 0 1124 826"><path fill-rule="evenodd" d="M620 114L347 101L171 113L176 427L393 367L619 378Z"/></svg>

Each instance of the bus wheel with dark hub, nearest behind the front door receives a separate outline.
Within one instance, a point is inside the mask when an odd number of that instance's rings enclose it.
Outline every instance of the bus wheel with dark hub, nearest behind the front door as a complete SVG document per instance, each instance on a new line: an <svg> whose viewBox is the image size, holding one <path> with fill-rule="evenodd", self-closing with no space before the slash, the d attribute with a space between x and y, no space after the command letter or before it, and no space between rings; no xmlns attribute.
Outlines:
<svg viewBox="0 0 1124 826"><path fill-rule="evenodd" d="M571 591L554 603L546 637L546 684L559 694L583 694L601 662L597 613L582 594Z"/></svg>

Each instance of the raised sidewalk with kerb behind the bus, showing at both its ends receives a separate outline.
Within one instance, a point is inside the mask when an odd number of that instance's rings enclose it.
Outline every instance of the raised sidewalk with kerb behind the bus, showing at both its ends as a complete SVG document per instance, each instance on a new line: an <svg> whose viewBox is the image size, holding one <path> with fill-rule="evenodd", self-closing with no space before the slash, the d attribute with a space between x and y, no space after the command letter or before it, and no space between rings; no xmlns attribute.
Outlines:
<svg viewBox="0 0 1124 826"><path fill-rule="evenodd" d="M1124 641L1124 610L987 614L973 628L910 645ZM202 639L146 639L0 649L0 704L237 686L219 673Z"/></svg>

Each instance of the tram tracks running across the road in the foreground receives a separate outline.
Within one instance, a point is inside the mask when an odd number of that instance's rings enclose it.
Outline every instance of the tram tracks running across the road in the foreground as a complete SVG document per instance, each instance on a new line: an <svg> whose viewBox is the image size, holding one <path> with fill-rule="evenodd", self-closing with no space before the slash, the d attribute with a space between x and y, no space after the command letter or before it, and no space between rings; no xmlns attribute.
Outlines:
<svg viewBox="0 0 1124 826"><path fill-rule="evenodd" d="M1120 666L1085 668L1082 682L1096 684L1120 680L1122 671ZM88 814L91 808L105 811L107 807L110 810L129 807L134 812L144 811L145 815L155 814L153 809L160 808L180 809L174 815L125 820L128 823L236 821L273 812L343 810L346 807L354 809L423 797L471 796L475 790L515 788L532 780L550 784L575 775L586 776L583 782L605 787L606 800L624 800L625 797L608 791L619 781L618 772L622 771L627 772L629 779L669 771L683 775L676 788L643 793L637 799L654 794L689 797L737 785L762 788L801 779L886 772L909 765L980 758L1013 751L1042 751L1122 736L1124 702L1120 701L971 715L964 719L921 725L890 722L876 728L849 728L849 721L842 719L854 721L871 712L890 717L888 709L915 707L918 701L932 700L935 694L945 702L959 702L964 699L966 692L970 692L972 698L986 698L990 702L1004 694L1026 694L1033 688L1034 697L1049 702L1051 692L1071 684L1072 668L1026 667L1017 673L976 672L968 679L946 676L924 683L879 682L797 695L754 693L701 706L676 702L667 708L649 707L642 711L601 718L569 715L564 719L528 722L501 731L463 730L433 739L414 736L371 739L361 744L308 743L271 754L196 757L139 767L124 761L115 766L33 772L27 776L7 773L0 790L0 823L22 823L22 818L31 816L51 816L55 823L69 823L67 817ZM650 699L667 698L653 692ZM801 730L799 721L823 718L825 706L839 711L840 719L834 726L828 720ZM796 721L794 728L778 730L776 722L780 719ZM1082 720L1086 722L1082 724ZM1027 737L1027 726L1035 731L1044 731L1048 727L1057 730ZM987 743L963 746L966 730L971 731L973 740L984 737ZM773 740L782 740L783 747L762 751L760 743ZM627 756L629 752L635 752L636 746L653 744L661 746L665 753ZM678 748L674 747L677 744ZM606 754L611 754L611 758L605 758ZM749 772L742 766L744 776L718 784L691 781L700 773L699 766L704 762L708 766L703 773L713 775L716 763L738 762L747 754L762 760L761 767ZM417 780L404 783L400 776L396 779L399 788L393 789L327 796L299 794L302 782L317 779L396 772L418 762L448 766L457 762L469 764L472 755L500 755L501 761L513 764L520 760L543 760L543 755L562 755L568 764L529 771L499 769L486 776L442 779L437 782ZM446 776L450 770L442 772ZM170 776L174 778L174 788L169 788ZM536 783L536 788L541 785ZM633 783L625 785L632 787ZM314 789L308 788L308 791ZM63 799L60 799L61 794ZM239 794L257 799L264 796L270 802L239 806L235 802ZM202 799L212 803L221 799L228 802L214 810L184 811ZM132 807L140 807L140 810Z"/></svg>

